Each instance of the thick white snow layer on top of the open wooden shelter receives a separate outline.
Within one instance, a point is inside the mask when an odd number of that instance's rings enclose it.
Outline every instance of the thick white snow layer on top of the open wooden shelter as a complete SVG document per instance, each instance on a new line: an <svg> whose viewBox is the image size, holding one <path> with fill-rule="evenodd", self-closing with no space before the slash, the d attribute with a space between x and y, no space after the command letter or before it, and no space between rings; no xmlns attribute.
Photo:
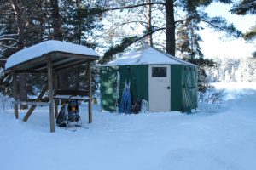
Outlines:
<svg viewBox="0 0 256 170"><path fill-rule="evenodd" d="M32 47L25 48L19 52L12 54L5 64L5 69L10 69L15 65L20 65L31 59L36 59L44 54L49 54L51 52L64 52L67 54L79 54L86 56L94 56L96 59L100 57L96 51L87 48L85 46L73 44L70 42L61 42L56 40L49 40L45 42L40 42Z"/></svg>

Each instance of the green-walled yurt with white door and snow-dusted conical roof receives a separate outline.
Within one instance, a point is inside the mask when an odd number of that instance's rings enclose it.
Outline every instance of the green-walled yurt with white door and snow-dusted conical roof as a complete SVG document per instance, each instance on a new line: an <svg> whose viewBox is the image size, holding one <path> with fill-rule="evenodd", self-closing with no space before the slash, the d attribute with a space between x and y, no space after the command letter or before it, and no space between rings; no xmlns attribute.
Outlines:
<svg viewBox="0 0 256 170"><path fill-rule="evenodd" d="M197 107L197 66L144 46L100 68L102 111L119 111L129 86L131 105L146 101L152 112Z"/></svg>

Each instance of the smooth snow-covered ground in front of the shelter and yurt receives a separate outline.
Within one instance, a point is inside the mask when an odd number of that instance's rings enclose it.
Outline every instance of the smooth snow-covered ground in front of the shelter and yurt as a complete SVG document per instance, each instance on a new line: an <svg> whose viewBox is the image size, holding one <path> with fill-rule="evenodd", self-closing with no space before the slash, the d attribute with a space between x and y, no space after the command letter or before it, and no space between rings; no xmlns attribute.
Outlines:
<svg viewBox="0 0 256 170"><path fill-rule="evenodd" d="M1 106L0 169L254 169L256 86L238 86L217 84L227 88L224 103L200 104L189 115L113 114L94 105L88 124L81 105L84 127L55 127L55 133L49 133L47 107L25 123L24 113L16 120L10 106L4 113Z"/></svg>

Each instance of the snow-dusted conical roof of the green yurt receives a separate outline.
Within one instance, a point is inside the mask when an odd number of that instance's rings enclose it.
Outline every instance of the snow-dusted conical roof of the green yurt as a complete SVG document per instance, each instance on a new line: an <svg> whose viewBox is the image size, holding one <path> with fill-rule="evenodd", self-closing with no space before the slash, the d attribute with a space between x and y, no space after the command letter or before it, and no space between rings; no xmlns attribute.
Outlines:
<svg viewBox="0 0 256 170"><path fill-rule="evenodd" d="M125 54L119 59L108 62L103 66L114 66L114 65L193 65L183 59L179 59L170 54L161 52L156 48L150 46L143 46L130 54ZM193 65L196 66L196 65Z"/></svg>

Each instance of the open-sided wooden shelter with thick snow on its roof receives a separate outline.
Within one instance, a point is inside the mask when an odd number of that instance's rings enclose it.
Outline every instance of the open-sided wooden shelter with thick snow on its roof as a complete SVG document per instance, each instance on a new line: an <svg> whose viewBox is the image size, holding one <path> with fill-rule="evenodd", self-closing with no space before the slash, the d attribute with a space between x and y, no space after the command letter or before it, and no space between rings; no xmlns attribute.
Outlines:
<svg viewBox="0 0 256 170"><path fill-rule="evenodd" d="M68 42L46 41L38 43L30 48L25 48L11 55L5 65L5 73L13 74L13 90L14 90L14 107L15 117L19 118L18 105L29 104L27 101L20 101L17 93L17 74L18 73L47 73L47 85L38 95L38 99L31 102L31 108L27 111L23 121L26 122L28 117L37 105L49 105L49 122L50 132L55 132L55 116L57 115L57 105L54 105L54 92L57 91L56 75L57 71L66 69L75 65L87 63L88 66L88 101L89 123L92 122L91 111L91 69L90 63L99 59L99 54L90 48L76 45ZM54 91L55 90L55 91ZM49 102L40 102L45 92L49 92ZM55 107L55 109L54 109ZM54 113L55 111L55 113Z"/></svg>

